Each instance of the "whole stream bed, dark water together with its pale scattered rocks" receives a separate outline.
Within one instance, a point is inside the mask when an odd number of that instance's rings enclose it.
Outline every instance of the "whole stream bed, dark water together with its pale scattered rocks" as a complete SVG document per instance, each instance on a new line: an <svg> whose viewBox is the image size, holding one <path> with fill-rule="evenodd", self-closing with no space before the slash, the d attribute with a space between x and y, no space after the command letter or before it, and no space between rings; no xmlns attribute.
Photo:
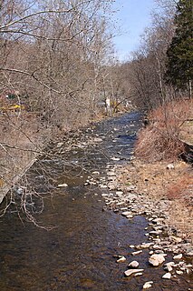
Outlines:
<svg viewBox="0 0 193 291"><path fill-rule="evenodd" d="M119 179L140 124L138 113L101 122L34 163L30 188L44 200L34 216L53 229L22 224L14 207L1 218L2 291L193 290L193 247L168 226L168 201Z"/></svg>

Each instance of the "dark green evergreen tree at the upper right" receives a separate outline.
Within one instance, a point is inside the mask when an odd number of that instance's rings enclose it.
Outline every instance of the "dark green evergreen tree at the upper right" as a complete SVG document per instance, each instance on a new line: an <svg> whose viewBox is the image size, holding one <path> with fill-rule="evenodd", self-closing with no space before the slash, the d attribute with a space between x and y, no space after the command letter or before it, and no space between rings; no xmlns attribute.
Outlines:
<svg viewBox="0 0 193 291"><path fill-rule="evenodd" d="M167 83L189 87L193 79L193 0L179 0L175 15L176 31L167 51Z"/></svg>

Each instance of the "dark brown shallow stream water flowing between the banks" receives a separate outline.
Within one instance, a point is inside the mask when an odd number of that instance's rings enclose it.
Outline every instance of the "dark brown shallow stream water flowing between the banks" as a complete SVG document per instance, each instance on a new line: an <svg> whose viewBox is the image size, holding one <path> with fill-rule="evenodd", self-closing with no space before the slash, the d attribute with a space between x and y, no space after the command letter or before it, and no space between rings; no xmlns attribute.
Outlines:
<svg viewBox="0 0 193 291"><path fill-rule="evenodd" d="M154 282L150 290L193 290L189 276L161 279L165 272L162 267L149 266L148 250L130 255L130 245L147 240L145 217L128 220L103 211L101 188L85 185L93 171L99 171L98 179L104 181L107 168L130 160L139 128L138 113L101 122L72 137L70 150L66 145L55 146L60 152L57 158L42 158L32 167L28 176L44 197L43 212L36 219L42 226L55 227L47 231L22 223L13 210L1 218L1 291L140 291L147 281ZM120 160L114 161L116 157ZM63 183L68 186L55 187ZM117 264L116 255L126 256L127 263ZM124 271L134 259L145 269L144 274L126 278Z"/></svg>

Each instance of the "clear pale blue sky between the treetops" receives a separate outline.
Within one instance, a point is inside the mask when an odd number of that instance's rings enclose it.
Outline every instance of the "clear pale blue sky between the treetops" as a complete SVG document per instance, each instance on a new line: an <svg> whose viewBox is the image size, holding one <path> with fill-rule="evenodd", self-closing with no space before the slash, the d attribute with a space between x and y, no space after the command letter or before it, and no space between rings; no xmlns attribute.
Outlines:
<svg viewBox="0 0 193 291"><path fill-rule="evenodd" d="M150 25L150 13L155 7L154 0L116 0L113 19L120 26L121 35L113 39L115 50L121 61L128 60L130 53L140 45L140 35Z"/></svg>

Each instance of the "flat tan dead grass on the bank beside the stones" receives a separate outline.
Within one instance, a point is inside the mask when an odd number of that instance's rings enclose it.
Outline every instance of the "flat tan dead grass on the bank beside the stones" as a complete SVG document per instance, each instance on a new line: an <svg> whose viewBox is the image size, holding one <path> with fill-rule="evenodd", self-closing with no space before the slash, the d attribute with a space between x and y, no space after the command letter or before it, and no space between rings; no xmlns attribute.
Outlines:
<svg viewBox="0 0 193 291"><path fill-rule="evenodd" d="M174 169L168 162L145 163L140 159L121 169L120 181L136 186L137 193L152 200L168 201L168 224L176 227L193 242L193 170L185 162L176 161ZM125 190L126 191L126 190Z"/></svg>

